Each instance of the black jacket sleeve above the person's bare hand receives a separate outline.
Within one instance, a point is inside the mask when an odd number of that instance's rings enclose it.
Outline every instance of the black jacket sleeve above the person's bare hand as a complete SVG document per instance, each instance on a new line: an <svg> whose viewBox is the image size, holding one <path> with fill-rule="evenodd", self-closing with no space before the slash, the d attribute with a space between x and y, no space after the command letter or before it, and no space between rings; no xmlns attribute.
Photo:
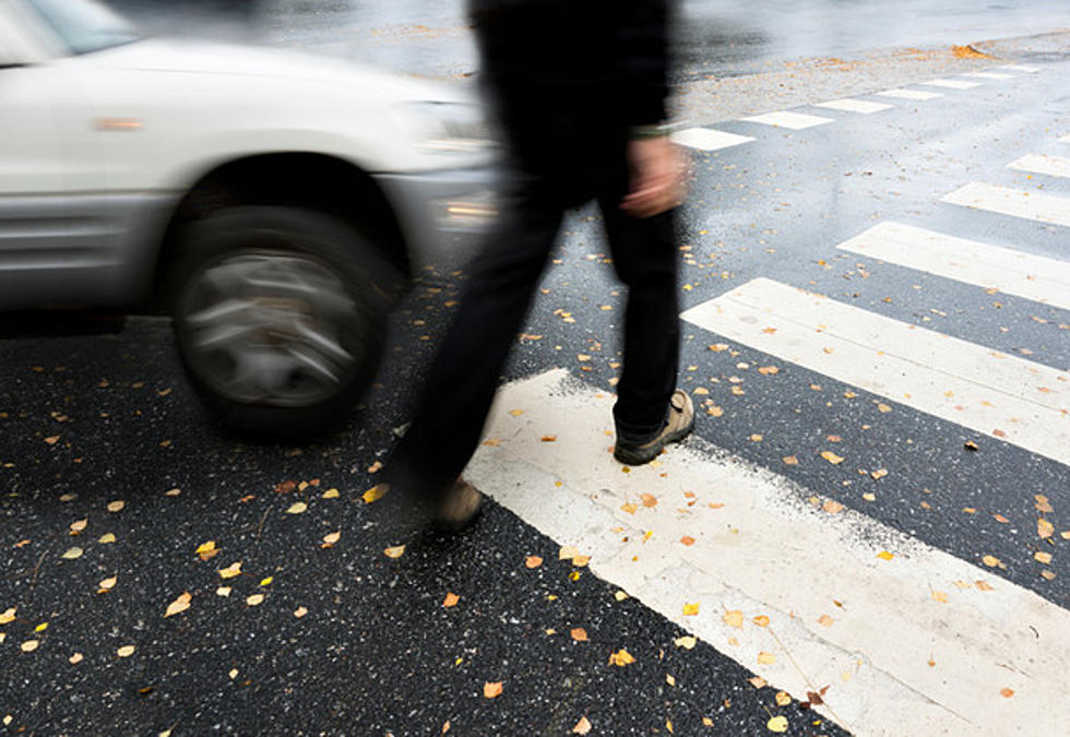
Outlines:
<svg viewBox="0 0 1070 737"><path fill-rule="evenodd" d="M617 49L629 126L666 119L671 0L621 0L617 4Z"/></svg>

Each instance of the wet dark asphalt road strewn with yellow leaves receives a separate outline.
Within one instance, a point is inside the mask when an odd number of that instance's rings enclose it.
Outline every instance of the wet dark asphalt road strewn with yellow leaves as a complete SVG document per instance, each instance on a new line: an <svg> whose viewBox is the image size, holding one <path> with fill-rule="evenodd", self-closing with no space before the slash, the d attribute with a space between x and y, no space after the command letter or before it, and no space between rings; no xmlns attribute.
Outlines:
<svg viewBox="0 0 1070 737"><path fill-rule="evenodd" d="M1006 45L1002 61L979 63L1035 62L1031 44ZM948 73L978 64L959 63ZM968 182L1070 198L1065 176L1007 168L1030 153L1070 155L1070 144L1058 141L1070 133L1066 51L1046 52L1037 68L1010 80L976 78L980 85L970 90L910 85L943 94L930 100L860 94L864 82L868 93L890 84L880 76L859 81L848 69L840 75L855 98L895 107L872 115L797 107L832 120L798 131L718 123L717 131L754 140L693 153L696 180L681 223L685 309L770 280L855 308L861 325L878 316L1066 376L1066 308L837 249L892 221L1065 264L1067 225L941 201ZM834 82L822 84L825 99L839 96ZM597 226L597 213L584 211L567 227L507 379L563 368L582 385L613 391L622 301ZM748 629L738 628L745 641L733 644L730 594L703 601L714 625L724 618L727 637L701 635L689 649L679 639L700 631L691 623L697 618L659 610L654 589L632 590L597 558L588 566L559 559L571 540L538 532L513 511L515 495L504 494L515 486L512 476L483 484L502 502L490 501L479 523L455 537L427 533L389 495L365 501L394 428L407 421L459 286L436 274L417 284L395 316L392 349L366 406L337 433L298 447L249 444L216 430L180 373L164 322L0 341L0 614L15 609L0 625L0 729L554 735L572 734L586 720L591 734L760 735L778 728L773 720L783 716L787 734L907 734L900 718L845 717L836 694L846 679L813 683L815 691L831 687L823 705L809 689L778 697L781 678L787 683L797 680L796 668L806 670L804 653L795 661L789 643L771 647L775 665L740 655L749 645L744 633L761 633L754 629L761 625L750 623L748 610ZM1003 439L919 409L913 396L889 399L835 378L846 361L806 368L775 353L776 344L758 350L690 322L685 335L681 384L701 407L709 401L720 411L700 412L688 453L712 447L785 479L804 506L820 496L834 502L823 507L830 516L860 515L851 519L975 567L994 595L1031 597L1008 599L1033 607L1015 615L1023 627L1037 607L1070 608L1068 543L1060 535L1070 532L1065 452L1029 450L1011 442L1011 427ZM950 376L951 357L929 356L928 366ZM770 366L777 371L758 370ZM830 450L845 461L820 455ZM666 472L676 473L671 452L665 459ZM563 479L572 469L547 461L544 471ZM887 473L875 476L879 471ZM614 484L607 476L604 485ZM571 499L567 492L557 498ZM1051 511L1041 509L1037 495ZM1042 536L1038 519L1054 534ZM384 555L402 545L400 557ZM1051 558L1042 562L1038 552ZM776 546L752 555L794 579L788 589L798 591L788 598L801 601L813 593L804 589L820 585L799 560L778 559ZM533 556L543 559L538 566L528 563ZM219 571L237 570L236 562L240 573L223 578ZM825 572L834 580L849 567L832 557ZM730 580L730 571L724 575ZM954 594L948 581L931 586ZM794 619L774 604L777 592L756 582L751 593L768 595L759 603L774 623ZM459 598L444 606L449 594ZM900 604L889 602L887 621L872 622L876 634L863 633L860 642L879 640L881 627L892 631L907 616L900 609L910 608ZM177 613L166 616L169 607ZM955 626L950 618L934 622ZM1058 653L1065 644L1047 646ZM622 650L634 662L611 664ZM870 653L860 647L857 655ZM934 658L942 665L941 654ZM1023 682L1065 693L1062 673L1030 673ZM496 683L501 694L487 698ZM994 702L1008 706L1030 696L1023 687L1000 696L1002 680L982 685L989 687ZM873 714L887 713L879 692L873 701ZM971 722L972 713L988 713L979 703L944 705L982 733L990 727L984 716ZM894 711L891 702L884 708ZM1066 701L1053 700L1045 714L1065 718ZM1020 732L1031 734L1032 724L1021 721Z"/></svg>

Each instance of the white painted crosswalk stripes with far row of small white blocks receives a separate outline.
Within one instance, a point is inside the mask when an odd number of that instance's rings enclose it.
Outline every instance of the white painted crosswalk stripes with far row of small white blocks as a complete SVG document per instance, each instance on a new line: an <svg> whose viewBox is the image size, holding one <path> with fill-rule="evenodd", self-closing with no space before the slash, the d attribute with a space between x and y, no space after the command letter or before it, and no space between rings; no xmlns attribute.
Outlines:
<svg viewBox="0 0 1070 737"><path fill-rule="evenodd" d="M966 91L1039 71L996 69L971 75L978 81L926 84ZM926 100L944 93L877 94ZM893 108L855 99L816 107L863 115ZM799 131L834 122L797 111L742 120ZM759 138L711 128L675 135L703 151ZM1070 143L1070 135L1049 140ZM1006 168L1058 180L1068 163L1021 152ZM1046 179L1024 189L1024 177L1015 177L1014 186L949 185L934 206L967 221L984 214L1038 231L1070 228L1070 198L1045 191ZM908 218L829 243L1070 312L1070 262L1029 247ZM765 277L697 304L681 319L712 341L748 346L1070 471L1070 367ZM1066 323L1070 317L1058 329L1070 331ZM856 735L1066 732L1070 610L992 575L998 560L983 567L958 558L699 438L650 466L622 468L610 453L613 399L563 370L507 387L488 424L494 440L466 474L546 535L591 556L598 576L776 688L801 698L831 685L816 710Z"/></svg>

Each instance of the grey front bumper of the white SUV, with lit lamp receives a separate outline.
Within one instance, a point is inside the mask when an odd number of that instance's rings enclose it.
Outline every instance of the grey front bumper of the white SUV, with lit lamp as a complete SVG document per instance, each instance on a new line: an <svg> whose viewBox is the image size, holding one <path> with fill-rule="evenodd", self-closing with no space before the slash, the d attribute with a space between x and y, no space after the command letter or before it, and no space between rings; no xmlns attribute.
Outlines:
<svg viewBox="0 0 1070 737"><path fill-rule="evenodd" d="M494 167L374 179L394 209L413 273L428 265L460 268L498 219L500 173Z"/></svg>

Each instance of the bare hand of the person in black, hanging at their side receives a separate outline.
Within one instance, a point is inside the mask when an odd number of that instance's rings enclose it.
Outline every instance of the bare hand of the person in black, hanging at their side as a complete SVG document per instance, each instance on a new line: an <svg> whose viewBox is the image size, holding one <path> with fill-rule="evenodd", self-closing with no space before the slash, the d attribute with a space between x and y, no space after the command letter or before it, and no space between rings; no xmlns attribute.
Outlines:
<svg viewBox="0 0 1070 737"><path fill-rule="evenodd" d="M686 192L687 162L668 136L628 144L631 182L620 209L632 217L652 217L680 204Z"/></svg>

